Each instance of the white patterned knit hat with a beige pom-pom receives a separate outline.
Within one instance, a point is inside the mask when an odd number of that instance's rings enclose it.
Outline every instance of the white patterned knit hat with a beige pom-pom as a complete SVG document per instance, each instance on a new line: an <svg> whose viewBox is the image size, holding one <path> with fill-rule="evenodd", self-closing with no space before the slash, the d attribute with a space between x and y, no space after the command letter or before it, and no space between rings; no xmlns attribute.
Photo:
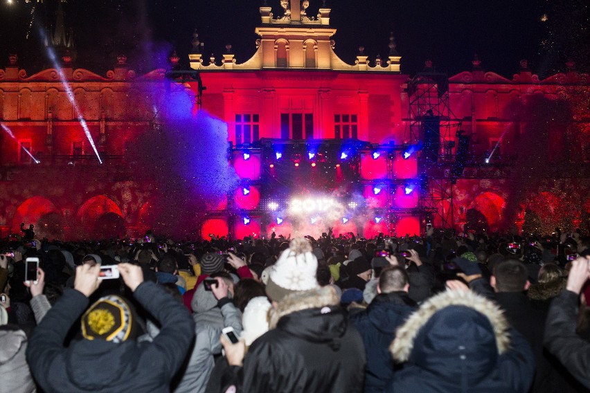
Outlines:
<svg viewBox="0 0 590 393"><path fill-rule="evenodd" d="M296 237L269 270L269 298L280 302L289 293L316 288L317 269L318 260L312 253L312 245L303 237Z"/></svg>

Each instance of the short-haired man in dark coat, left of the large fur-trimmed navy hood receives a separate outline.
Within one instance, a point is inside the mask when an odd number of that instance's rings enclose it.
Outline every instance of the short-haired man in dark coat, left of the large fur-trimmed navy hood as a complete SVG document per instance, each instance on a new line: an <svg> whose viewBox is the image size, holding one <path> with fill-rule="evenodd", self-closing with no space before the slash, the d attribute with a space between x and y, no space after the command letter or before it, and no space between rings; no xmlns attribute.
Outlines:
<svg viewBox="0 0 590 393"><path fill-rule="evenodd" d="M408 289L409 277L404 268L384 268L379 275L378 295L366 311L350 317L365 345L365 393L382 392L393 376L393 359L388 347L395 338L395 329L418 308L409 298Z"/></svg>

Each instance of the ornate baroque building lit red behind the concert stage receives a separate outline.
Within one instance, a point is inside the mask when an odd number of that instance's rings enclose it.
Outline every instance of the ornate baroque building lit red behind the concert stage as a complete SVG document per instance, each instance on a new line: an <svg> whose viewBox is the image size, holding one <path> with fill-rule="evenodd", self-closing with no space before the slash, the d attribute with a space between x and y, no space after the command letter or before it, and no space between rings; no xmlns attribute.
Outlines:
<svg viewBox="0 0 590 393"><path fill-rule="evenodd" d="M196 33L190 70L173 54L170 69L136 75L120 55L102 76L74 68L64 52L60 66L27 75L10 55L0 69L2 235L21 222L64 238L157 227L158 185L133 176L127 152L166 122L170 94L226 124L240 177L195 221L204 237L313 225L404 235L427 222L588 228L589 80L573 62L544 80L526 60L508 78L477 57L450 77L431 62L404 75L392 34L388 57L359 48L346 64L334 51L330 8L308 15L309 5L280 1L279 15L260 7L256 51L242 63L231 46L221 59L205 55Z"/></svg>

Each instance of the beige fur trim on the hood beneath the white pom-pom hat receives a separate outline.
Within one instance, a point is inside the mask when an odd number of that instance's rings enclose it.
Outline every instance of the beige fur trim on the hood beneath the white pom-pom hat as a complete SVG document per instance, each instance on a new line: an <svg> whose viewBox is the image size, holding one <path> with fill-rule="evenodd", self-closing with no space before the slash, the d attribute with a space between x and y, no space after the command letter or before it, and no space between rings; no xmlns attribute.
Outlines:
<svg viewBox="0 0 590 393"><path fill-rule="evenodd" d="M335 307L339 302L336 291L330 285L309 291L290 293L278 302L277 307L270 309L269 327L274 329L278 320L290 313L319 307Z"/></svg>

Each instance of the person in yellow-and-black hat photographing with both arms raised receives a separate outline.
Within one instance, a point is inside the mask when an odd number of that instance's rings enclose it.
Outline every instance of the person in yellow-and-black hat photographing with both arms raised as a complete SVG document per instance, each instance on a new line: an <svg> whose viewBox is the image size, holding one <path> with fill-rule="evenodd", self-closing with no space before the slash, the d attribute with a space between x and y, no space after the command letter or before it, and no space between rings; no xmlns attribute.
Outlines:
<svg viewBox="0 0 590 393"><path fill-rule="evenodd" d="M134 313L123 298L111 295L82 316L84 339L64 348L71 325L98 289L100 265L78 266L74 289L66 291L30 338L26 358L44 392L169 392L195 335L188 311L153 282L140 266L119 264L134 298L161 324L153 342L134 340Z"/></svg>

